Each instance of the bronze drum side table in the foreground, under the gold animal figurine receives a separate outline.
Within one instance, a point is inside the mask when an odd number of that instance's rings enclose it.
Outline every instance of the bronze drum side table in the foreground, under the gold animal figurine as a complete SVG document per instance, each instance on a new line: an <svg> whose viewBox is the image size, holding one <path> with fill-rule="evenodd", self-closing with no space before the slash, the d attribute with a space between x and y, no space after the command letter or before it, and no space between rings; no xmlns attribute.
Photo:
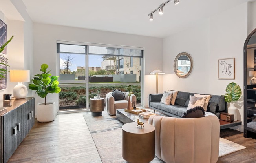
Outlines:
<svg viewBox="0 0 256 163"><path fill-rule="evenodd" d="M149 163L155 158L155 127L136 122L122 126L122 157L129 163Z"/></svg>

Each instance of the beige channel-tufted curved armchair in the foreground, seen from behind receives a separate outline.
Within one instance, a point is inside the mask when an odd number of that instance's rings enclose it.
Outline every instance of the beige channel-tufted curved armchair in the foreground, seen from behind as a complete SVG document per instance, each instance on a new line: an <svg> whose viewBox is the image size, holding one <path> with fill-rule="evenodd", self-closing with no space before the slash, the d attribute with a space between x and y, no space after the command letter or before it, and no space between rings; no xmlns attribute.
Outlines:
<svg viewBox="0 0 256 163"><path fill-rule="evenodd" d="M219 155L219 119L150 116L155 127L155 155L166 163L216 163Z"/></svg>

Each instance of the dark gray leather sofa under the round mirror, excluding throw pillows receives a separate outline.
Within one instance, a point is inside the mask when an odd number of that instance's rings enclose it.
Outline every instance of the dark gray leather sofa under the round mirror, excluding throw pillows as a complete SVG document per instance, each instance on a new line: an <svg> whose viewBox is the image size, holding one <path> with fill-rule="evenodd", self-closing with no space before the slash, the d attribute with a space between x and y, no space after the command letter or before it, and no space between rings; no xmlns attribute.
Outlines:
<svg viewBox="0 0 256 163"><path fill-rule="evenodd" d="M194 96L194 94L196 93L189 93L189 92L182 92L182 91L178 92L177 98L179 98L179 100L182 99L183 101L186 101L184 106L177 105L176 103L175 105L165 105L163 103L160 103L163 93L150 94L149 108L162 112L167 116L181 117L182 114L187 110L190 95ZM216 109L212 110L210 108L211 103L215 103L217 105ZM220 112L227 112L227 102L225 102L224 97L219 95L212 95L212 97L210 98L209 105L207 107L207 112L214 113L218 118L220 117Z"/></svg>

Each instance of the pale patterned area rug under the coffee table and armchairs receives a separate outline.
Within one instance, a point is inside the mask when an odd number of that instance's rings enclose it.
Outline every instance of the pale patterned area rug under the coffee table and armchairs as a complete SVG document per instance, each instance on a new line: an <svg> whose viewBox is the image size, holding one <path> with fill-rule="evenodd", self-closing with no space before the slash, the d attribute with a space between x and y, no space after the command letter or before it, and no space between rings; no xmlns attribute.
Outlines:
<svg viewBox="0 0 256 163"><path fill-rule="evenodd" d="M123 123L115 118L115 116L110 116L106 111L99 117L86 114L84 119L91 132L102 163L126 163L122 158L121 147L121 127ZM220 138L219 141L219 157L246 148L223 138ZM136 148L136 145L134 148ZM164 163L164 161L155 157L151 163Z"/></svg>

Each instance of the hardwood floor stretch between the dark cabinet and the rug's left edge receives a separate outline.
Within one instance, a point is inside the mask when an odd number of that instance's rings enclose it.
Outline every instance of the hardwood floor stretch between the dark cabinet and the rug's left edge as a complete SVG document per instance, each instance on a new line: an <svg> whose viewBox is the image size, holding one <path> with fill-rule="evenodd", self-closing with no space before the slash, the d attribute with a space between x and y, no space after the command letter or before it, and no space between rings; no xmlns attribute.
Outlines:
<svg viewBox="0 0 256 163"><path fill-rule="evenodd" d="M83 114L60 114L35 125L9 163L101 163Z"/></svg>

